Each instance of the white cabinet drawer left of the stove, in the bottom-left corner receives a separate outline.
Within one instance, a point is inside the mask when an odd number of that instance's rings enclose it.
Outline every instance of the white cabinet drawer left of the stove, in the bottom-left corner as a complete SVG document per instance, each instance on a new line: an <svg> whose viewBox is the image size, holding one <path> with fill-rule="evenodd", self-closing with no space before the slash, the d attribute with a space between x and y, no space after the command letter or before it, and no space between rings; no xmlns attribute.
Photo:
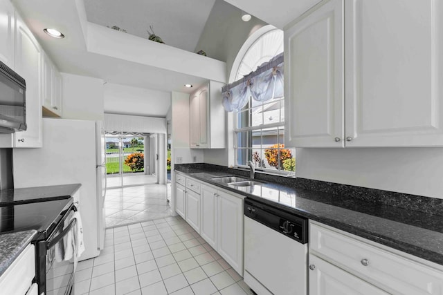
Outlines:
<svg viewBox="0 0 443 295"><path fill-rule="evenodd" d="M28 245L0 277L0 293L26 294L35 276L35 248Z"/></svg>

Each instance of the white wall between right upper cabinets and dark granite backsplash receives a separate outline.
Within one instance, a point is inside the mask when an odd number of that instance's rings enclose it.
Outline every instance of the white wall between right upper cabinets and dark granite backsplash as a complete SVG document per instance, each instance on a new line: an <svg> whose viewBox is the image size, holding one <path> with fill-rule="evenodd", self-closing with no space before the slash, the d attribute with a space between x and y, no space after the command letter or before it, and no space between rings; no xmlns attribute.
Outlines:
<svg viewBox="0 0 443 295"><path fill-rule="evenodd" d="M297 149L296 175L443 198L442 148Z"/></svg>

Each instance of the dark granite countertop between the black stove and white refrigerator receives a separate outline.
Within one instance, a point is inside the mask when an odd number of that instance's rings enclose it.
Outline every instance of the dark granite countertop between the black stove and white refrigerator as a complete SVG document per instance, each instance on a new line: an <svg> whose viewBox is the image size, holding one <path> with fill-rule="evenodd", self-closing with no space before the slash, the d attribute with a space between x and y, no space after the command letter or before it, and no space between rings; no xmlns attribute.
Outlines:
<svg viewBox="0 0 443 295"><path fill-rule="evenodd" d="M73 196L82 184L62 184L47 187L26 187L0 191L0 204L20 204L45 200L61 200Z"/></svg>

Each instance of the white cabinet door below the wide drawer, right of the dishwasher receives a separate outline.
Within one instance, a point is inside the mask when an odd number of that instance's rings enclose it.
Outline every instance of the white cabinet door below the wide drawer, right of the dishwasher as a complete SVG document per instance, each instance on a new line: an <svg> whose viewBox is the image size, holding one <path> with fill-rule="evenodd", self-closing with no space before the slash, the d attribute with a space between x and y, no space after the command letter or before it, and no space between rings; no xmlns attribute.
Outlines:
<svg viewBox="0 0 443 295"><path fill-rule="evenodd" d="M309 295L388 295L383 290L312 254L309 254L308 277Z"/></svg>

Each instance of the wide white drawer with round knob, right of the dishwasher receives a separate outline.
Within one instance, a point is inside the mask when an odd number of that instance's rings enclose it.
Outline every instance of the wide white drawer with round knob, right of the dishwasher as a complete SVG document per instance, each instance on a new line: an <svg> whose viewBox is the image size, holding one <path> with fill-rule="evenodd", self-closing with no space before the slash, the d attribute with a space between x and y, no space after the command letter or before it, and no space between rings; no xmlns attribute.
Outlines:
<svg viewBox="0 0 443 295"><path fill-rule="evenodd" d="M443 294L443 272L353 238L309 224L309 248L392 294Z"/></svg>

